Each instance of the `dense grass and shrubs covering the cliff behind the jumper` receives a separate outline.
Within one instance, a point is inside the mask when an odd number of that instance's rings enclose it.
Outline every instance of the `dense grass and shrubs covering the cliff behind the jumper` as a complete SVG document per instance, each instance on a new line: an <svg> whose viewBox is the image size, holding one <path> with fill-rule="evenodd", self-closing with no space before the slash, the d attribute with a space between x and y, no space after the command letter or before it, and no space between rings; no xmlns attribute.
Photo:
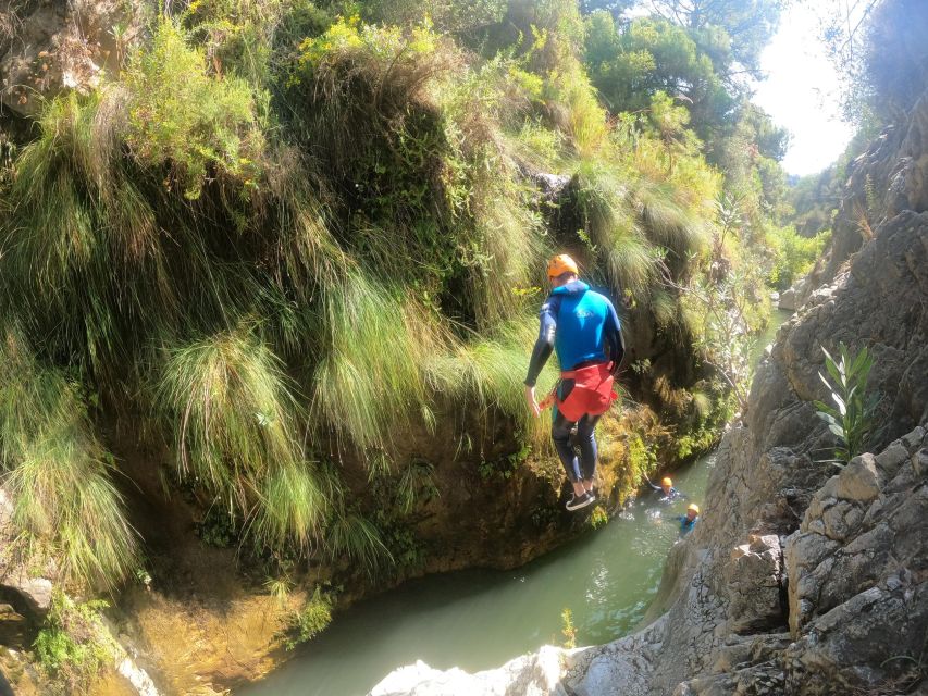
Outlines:
<svg viewBox="0 0 928 696"><path fill-rule="evenodd" d="M751 36L569 0L153 17L119 74L49 101L0 178L0 459L23 548L78 586L144 564L128 432L171 452L165 490L222 526L205 538L272 573L420 562L408 518L442 461L410 439L477 469L502 424L487 492L553 465L521 381L555 249L632 339L627 423L647 442L614 424L605 475L627 489L707 447L787 257L783 134L735 76L776 18L756 4Z"/></svg>

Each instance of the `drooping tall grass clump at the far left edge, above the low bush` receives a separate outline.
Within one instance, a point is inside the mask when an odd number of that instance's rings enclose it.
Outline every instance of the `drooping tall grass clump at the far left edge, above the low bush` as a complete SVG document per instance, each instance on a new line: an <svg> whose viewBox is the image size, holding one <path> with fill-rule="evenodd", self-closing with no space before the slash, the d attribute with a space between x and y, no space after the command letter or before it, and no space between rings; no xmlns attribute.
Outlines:
<svg viewBox="0 0 928 696"><path fill-rule="evenodd" d="M137 536L77 386L40 365L22 334L0 345L0 462L25 562L112 587L139 566Z"/></svg>

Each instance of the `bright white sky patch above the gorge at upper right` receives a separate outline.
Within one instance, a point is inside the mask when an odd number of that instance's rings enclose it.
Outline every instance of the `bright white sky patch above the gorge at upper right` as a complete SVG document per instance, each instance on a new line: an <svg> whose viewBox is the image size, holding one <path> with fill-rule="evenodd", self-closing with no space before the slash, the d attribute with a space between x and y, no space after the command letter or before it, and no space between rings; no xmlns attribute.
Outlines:
<svg viewBox="0 0 928 696"><path fill-rule="evenodd" d="M791 5L760 57L767 79L757 85L753 101L792 135L782 162L790 174L820 172L854 135L839 117L838 77L825 57L817 27L808 7Z"/></svg>

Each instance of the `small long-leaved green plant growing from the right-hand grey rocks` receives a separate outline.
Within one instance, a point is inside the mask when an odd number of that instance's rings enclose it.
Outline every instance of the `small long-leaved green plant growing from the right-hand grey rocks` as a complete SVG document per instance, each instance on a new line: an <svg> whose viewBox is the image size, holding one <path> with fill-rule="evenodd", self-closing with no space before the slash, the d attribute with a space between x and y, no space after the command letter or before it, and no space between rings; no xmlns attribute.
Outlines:
<svg viewBox="0 0 928 696"><path fill-rule="evenodd" d="M829 390L833 406L816 400L815 408L828 430L843 443L834 450L836 460L846 463L864 451L874 432L877 400L875 395L867 394L874 358L866 346L851 355L843 343L838 347L837 360L824 346L821 352L831 382L821 372L818 376Z"/></svg>

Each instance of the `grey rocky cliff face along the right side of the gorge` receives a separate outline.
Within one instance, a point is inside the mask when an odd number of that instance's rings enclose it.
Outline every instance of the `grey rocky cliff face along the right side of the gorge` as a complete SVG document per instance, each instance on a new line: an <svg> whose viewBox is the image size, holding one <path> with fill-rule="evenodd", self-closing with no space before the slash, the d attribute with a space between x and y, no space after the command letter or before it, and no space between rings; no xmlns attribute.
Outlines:
<svg viewBox="0 0 928 696"><path fill-rule="evenodd" d="M869 239L858 227L863 247L839 265L856 247L854 229L836 229L836 268L821 276L830 281L760 365L748 411L721 445L703 522L668 561L660 595L669 610L615 643L545 648L474 675L419 663L375 696L925 693L925 124L923 99L858 163L852 186L864 182L870 198L875 186L886 191L869 212ZM812 405L827 397L819 347L839 341L871 350L870 388L881 397L874 453L841 470L817 461L834 443Z"/></svg>

